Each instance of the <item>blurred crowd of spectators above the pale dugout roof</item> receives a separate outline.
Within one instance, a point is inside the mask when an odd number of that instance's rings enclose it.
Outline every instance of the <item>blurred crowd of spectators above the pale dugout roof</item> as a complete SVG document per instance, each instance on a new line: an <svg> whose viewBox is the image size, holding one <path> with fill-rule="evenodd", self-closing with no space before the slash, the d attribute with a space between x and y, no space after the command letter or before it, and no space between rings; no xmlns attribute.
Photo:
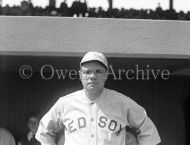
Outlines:
<svg viewBox="0 0 190 145"><path fill-rule="evenodd" d="M31 1L22 1L20 6L0 6L0 15L6 16L57 16L57 17L96 17L96 18L124 18L124 19L158 19L158 20L190 20L190 11L176 12L175 9L163 10L158 4L151 9L117 9L109 7L90 8L86 2L74 1L69 7L66 0L60 7L54 5L34 7Z"/></svg>

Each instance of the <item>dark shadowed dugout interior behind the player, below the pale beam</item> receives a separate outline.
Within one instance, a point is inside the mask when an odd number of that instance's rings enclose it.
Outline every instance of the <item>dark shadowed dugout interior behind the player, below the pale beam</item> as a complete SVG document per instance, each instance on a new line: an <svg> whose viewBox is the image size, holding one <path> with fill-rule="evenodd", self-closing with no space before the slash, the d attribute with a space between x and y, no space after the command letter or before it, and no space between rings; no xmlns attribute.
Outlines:
<svg viewBox="0 0 190 145"><path fill-rule="evenodd" d="M18 141L27 132L28 117L41 118L55 101L70 92L81 89L79 79L68 77L44 80L40 69L45 64L55 69L79 69L81 57L58 56L0 56L0 126L10 130ZM161 136L161 145L189 144L189 106L190 103L190 60L159 58L113 58L108 61L117 69L134 69L138 64L146 69L168 69L168 80L122 80L109 77L106 87L117 90L131 97L143 106L148 116L155 123ZM30 65L34 72L31 78L19 76L22 65ZM47 70L49 75L50 70ZM117 75L117 74L116 74Z"/></svg>

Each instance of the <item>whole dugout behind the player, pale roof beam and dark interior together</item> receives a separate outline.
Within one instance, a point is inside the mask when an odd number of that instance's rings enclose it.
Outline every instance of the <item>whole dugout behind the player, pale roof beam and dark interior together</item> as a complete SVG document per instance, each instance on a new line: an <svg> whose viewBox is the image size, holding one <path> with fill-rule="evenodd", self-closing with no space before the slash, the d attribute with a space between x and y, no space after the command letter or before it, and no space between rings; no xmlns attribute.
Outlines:
<svg viewBox="0 0 190 145"><path fill-rule="evenodd" d="M106 54L106 87L142 105L161 145L188 144L190 23L186 21L0 17L0 126L16 139L60 97L81 89L86 51Z"/></svg>

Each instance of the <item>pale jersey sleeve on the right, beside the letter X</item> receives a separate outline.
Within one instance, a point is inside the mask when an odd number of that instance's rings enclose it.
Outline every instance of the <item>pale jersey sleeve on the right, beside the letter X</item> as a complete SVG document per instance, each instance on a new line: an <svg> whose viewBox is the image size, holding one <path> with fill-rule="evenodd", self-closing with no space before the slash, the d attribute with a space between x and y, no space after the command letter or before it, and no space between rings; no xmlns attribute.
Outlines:
<svg viewBox="0 0 190 145"><path fill-rule="evenodd" d="M143 107L133 100L128 102L127 120L130 127L134 128L138 135L139 145L157 145L161 142L157 128L147 116Z"/></svg>

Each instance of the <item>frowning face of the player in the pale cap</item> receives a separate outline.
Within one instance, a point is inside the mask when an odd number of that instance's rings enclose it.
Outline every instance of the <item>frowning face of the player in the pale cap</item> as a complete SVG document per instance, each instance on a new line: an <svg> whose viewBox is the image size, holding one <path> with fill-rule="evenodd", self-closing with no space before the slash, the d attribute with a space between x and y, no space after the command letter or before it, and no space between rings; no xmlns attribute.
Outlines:
<svg viewBox="0 0 190 145"><path fill-rule="evenodd" d="M106 68L96 61L84 63L80 69L80 79L86 91L100 92L107 79Z"/></svg>

